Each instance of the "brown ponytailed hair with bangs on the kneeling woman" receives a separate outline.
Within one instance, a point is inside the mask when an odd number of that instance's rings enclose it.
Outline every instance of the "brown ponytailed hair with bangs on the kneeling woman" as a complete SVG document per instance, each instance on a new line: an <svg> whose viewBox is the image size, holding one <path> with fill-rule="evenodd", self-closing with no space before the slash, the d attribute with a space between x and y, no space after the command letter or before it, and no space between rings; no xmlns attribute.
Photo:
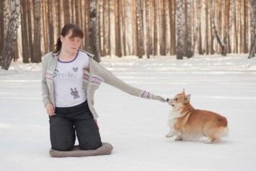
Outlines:
<svg viewBox="0 0 256 171"><path fill-rule="evenodd" d="M76 26L76 24L66 24L62 29L61 29L61 35L63 37L66 36L66 34L69 34L69 32L72 32L71 38L73 37L80 37L83 38L84 37L84 32L81 31L81 29ZM59 54L59 52L61 52L61 46L62 46L62 42L61 42L61 36L58 37L58 40L56 42L56 45L54 45L54 50L53 52L56 52Z"/></svg>

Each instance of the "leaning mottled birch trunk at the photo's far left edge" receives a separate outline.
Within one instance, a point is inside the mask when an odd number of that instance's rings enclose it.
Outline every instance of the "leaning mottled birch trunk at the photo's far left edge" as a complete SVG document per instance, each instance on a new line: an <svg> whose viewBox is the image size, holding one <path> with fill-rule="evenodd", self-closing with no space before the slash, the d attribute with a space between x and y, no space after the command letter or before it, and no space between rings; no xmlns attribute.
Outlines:
<svg viewBox="0 0 256 171"><path fill-rule="evenodd" d="M12 13L11 18L8 24L6 44L1 51L0 56L0 66L1 69L8 70L12 62L12 57L14 53L14 47L17 40L17 29L19 27L19 10L20 10L20 1L12 0Z"/></svg>

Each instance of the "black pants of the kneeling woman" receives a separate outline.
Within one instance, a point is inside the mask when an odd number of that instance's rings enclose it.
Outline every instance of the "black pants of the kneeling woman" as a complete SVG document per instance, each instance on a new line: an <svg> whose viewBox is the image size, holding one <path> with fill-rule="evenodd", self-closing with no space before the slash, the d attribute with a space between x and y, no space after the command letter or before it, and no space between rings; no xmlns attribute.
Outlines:
<svg viewBox="0 0 256 171"><path fill-rule="evenodd" d="M97 149L102 146L99 128L92 117L87 101L77 106L58 108L50 116L50 143L52 149L73 149L76 137L80 149Z"/></svg>

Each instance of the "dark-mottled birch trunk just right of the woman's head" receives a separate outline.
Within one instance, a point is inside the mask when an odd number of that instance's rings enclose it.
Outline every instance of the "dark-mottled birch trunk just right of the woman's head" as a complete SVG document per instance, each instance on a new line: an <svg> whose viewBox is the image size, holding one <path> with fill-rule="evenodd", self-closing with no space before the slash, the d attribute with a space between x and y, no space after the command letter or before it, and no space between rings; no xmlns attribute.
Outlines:
<svg viewBox="0 0 256 171"><path fill-rule="evenodd" d="M97 50L97 0L90 0L90 27L89 27L89 40L90 46L89 50L94 54L94 60L100 62L99 53Z"/></svg>

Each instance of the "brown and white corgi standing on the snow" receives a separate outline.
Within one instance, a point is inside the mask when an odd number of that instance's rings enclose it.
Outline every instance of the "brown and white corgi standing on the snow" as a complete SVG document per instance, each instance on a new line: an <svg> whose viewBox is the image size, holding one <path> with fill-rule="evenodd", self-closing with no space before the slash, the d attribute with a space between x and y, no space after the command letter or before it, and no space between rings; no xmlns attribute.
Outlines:
<svg viewBox="0 0 256 171"><path fill-rule="evenodd" d="M212 111L193 108L190 94L185 95L184 90L174 98L167 98L167 103L173 107L169 112L167 138L175 136L175 141L182 141L207 137L205 143L213 143L228 134L226 118Z"/></svg>

